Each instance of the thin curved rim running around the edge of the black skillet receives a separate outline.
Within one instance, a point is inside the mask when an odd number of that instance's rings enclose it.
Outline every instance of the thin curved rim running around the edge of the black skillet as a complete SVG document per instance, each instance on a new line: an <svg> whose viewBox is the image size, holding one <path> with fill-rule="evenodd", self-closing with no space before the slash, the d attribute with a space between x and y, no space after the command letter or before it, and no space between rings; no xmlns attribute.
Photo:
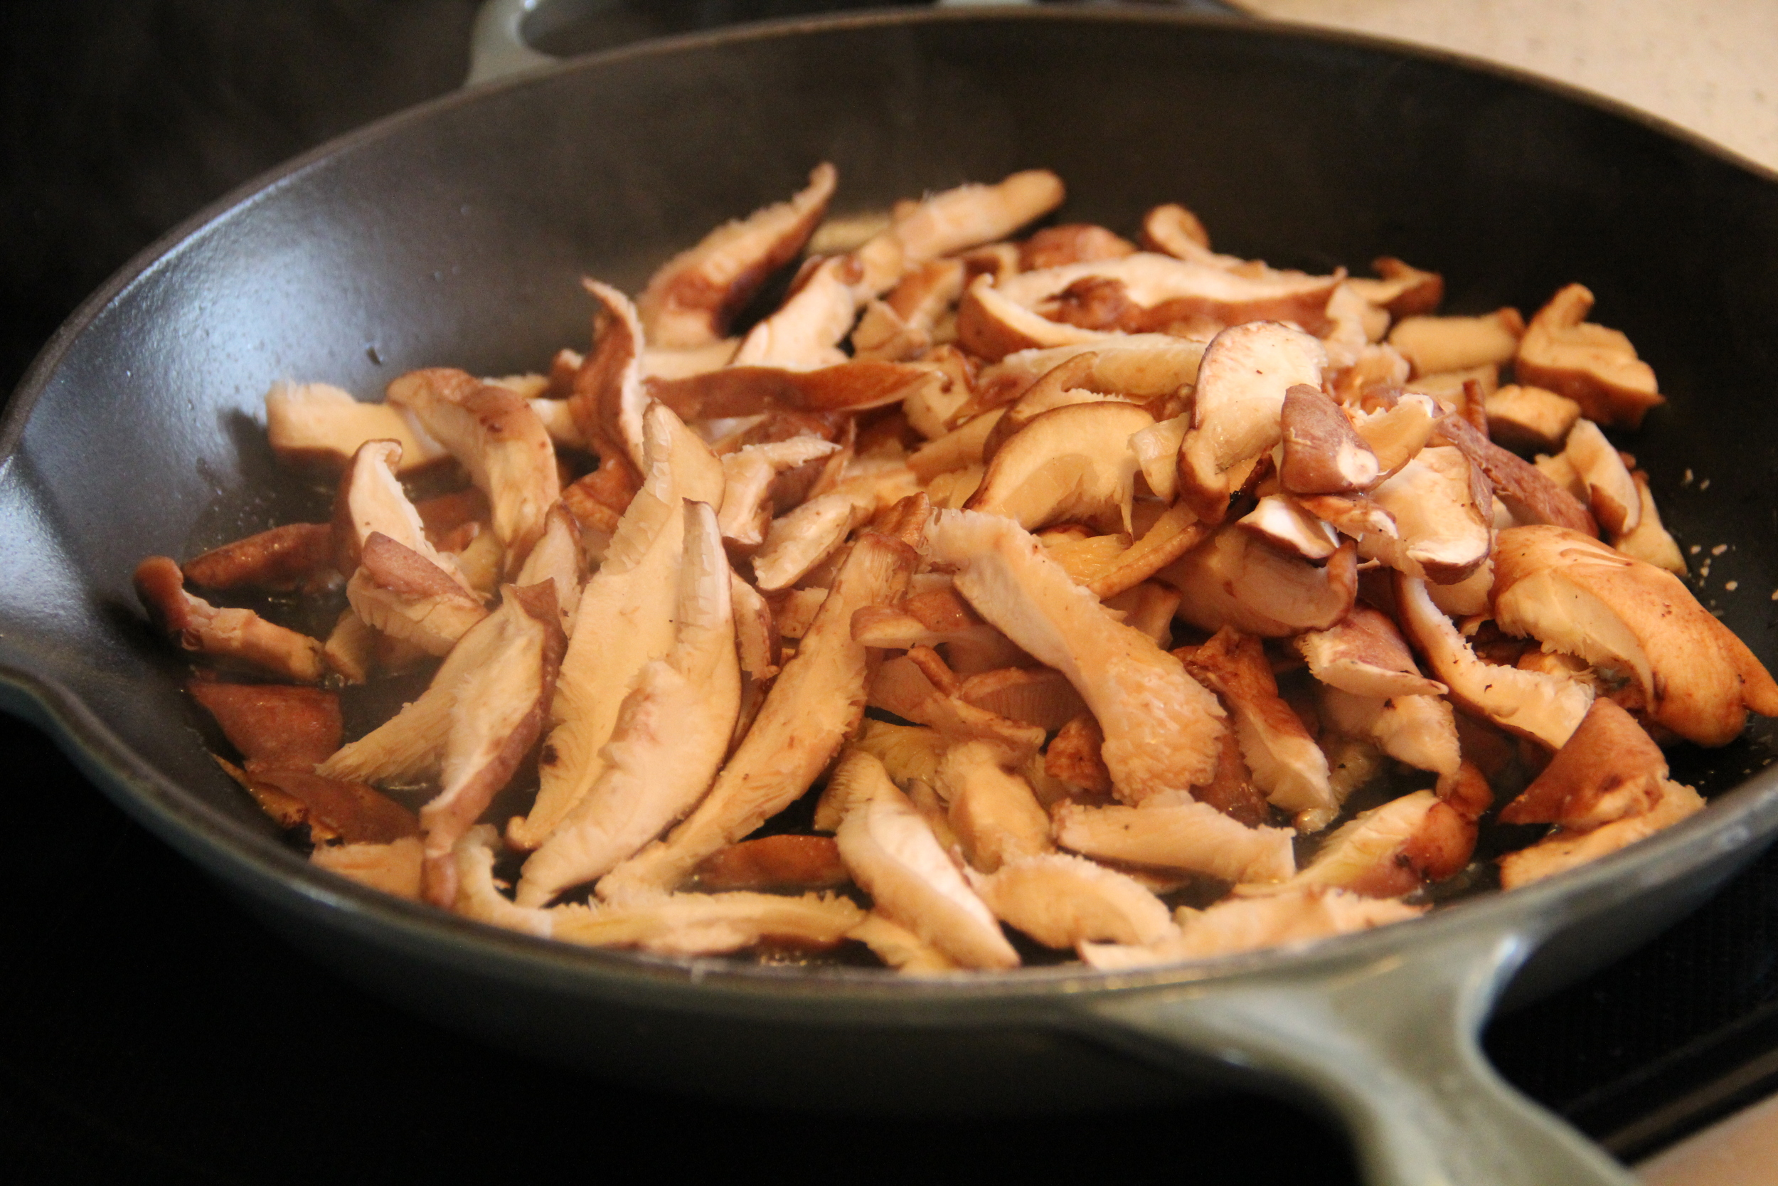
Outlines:
<svg viewBox="0 0 1778 1186"><path fill-rule="evenodd" d="M562 59L551 66L525 75L494 80L471 89L428 100L386 116L363 128L327 140L288 162L270 169L158 236L137 252L123 268L89 295L69 318L52 334L27 368L20 386L0 420L0 496L18 498L30 505L30 494L12 489L9 482L25 425L37 398L48 386L60 361L80 334L103 309L126 297L139 283L148 281L165 265L183 244L196 240L208 228L235 217L249 217L261 201L270 201L283 187L293 183L309 169L336 156L357 151L388 135L398 133L409 123L423 123L439 112L459 105L485 101L521 87L542 85L580 69L597 69L608 62L676 55L711 46L747 43L756 39L788 39L816 36L829 30L932 25L939 21L1067 21L1067 23L1129 23L1129 25L1182 25L1239 32L1253 37L1293 43L1319 43L1355 46L1371 53L1417 59L1444 69L1492 75L1511 84L1554 94L1565 103L1602 110L1618 119L1650 128L1657 135L1678 140L1687 148L1712 156L1753 178L1778 185L1778 171L1751 162L1732 149L1670 121L1629 107L1609 96L1554 82L1527 71L1483 62L1447 50L1414 46L1369 34L1310 28L1285 21L1211 16L1202 12L1156 12L1138 9L882 9L839 16L788 18L731 27L715 32L685 34L656 41L621 46L608 52ZM1707 813L1682 821L1666 832L1620 850L1588 866L1538 882L1513 893L1486 893L1451 903L1412 919L1414 930L1398 935L1398 928L1382 926L1367 932L1337 935L1310 946L1271 948L1253 953L1221 957L1216 960L1168 964L1140 971L1093 971L1083 966L1022 967L1006 973L973 971L955 978L909 978L887 969L861 967L763 967L724 960L720 957L674 958L637 951L581 948L571 942L537 939L498 926L446 914L421 903L411 903L363 887L343 877L316 869L283 843L249 830L233 816L192 797L172 779L135 756L108 725L87 708L68 686L32 672L27 665L0 665L0 704L9 711L48 725L55 741L69 752L82 770L105 795L128 814L148 825L160 839L181 855L192 859L206 873L219 877L231 891L245 891L268 905L295 910L329 926L356 932L361 939L395 944L425 958L448 958L453 964L480 964L480 971L501 978L519 976L530 982L564 982L578 985L594 996L619 996L663 1003L661 990L676 987L708 1008L725 1001L731 1012L773 1012L772 1005L795 1005L805 1015L809 1005L823 1003L845 1008L855 1003L901 1005L925 1010L958 1003L1053 1001L1061 998L1108 992L1140 992L1172 985L1204 985L1237 990L1257 983L1273 973L1307 974L1394 955L1398 950L1430 946L1463 934L1529 937L1533 946L1543 935L1565 923L1607 910L1611 905L1652 891L1687 873L1725 861L1730 853L1750 859L1778 834L1778 765L1766 766L1710 802ZM489 962L493 960L493 962ZM980 1021L980 1019L976 1019ZM1008 1019L1003 1019L1008 1021Z"/></svg>

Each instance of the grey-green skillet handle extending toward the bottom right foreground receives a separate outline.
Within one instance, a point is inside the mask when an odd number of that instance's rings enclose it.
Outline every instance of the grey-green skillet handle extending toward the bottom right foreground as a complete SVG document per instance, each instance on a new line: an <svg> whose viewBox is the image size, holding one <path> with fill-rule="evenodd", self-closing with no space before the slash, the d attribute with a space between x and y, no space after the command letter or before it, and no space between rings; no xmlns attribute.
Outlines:
<svg viewBox="0 0 1778 1186"><path fill-rule="evenodd" d="M1205 1060L1307 1090L1344 1120L1371 1186L1634 1186L1488 1065L1478 1035L1520 935L1465 934L1237 983L1131 989L1077 1005L1149 1062Z"/></svg>

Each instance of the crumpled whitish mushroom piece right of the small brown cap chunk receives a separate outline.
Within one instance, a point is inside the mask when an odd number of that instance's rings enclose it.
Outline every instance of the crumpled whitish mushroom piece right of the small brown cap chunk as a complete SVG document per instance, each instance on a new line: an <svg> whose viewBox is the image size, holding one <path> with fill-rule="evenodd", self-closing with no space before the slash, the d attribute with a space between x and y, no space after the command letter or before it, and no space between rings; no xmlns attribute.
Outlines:
<svg viewBox="0 0 1778 1186"><path fill-rule="evenodd" d="M1488 560L1494 494L1462 450L1428 445L1371 498L1396 530L1362 535L1360 557L1440 585L1462 581Z"/></svg>

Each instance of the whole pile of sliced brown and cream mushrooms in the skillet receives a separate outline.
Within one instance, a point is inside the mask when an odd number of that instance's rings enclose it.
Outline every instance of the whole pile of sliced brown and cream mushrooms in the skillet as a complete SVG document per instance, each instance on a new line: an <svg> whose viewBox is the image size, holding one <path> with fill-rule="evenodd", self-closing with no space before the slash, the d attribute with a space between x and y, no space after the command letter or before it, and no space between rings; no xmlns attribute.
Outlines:
<svg viewBox="0 0 1778 1186"><path fill-rule="evenodd" d="M1661 745L1778 713L1600 430L1662 397L1579 284L1437 317L1437 274L1182 206L1013 238L1044 171L829 219L836 181L587 281L548 373L272 388L331 523L137 587L260 677L192 695L316 864L583 944L1133 967L1572 868L1702 807ZM348 685L427 670L341 745ZM1478 857L1490 816L1540 827Z"/></svg>

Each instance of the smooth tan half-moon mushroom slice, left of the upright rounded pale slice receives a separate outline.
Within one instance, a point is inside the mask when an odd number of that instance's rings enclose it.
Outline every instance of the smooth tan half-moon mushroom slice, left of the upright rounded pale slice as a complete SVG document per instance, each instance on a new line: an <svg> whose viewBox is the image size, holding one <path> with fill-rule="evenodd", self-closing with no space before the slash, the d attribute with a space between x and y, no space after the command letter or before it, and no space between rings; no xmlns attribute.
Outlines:
<svg viewBox="0 0 1778 1186"><path fill-rule="evenodd" d="M1154 425L1134 404L1072 404L1035 416L989 462L967 510L1038 528L1063 519L1129 530L1136 453L1129 437Z"/></svg>

